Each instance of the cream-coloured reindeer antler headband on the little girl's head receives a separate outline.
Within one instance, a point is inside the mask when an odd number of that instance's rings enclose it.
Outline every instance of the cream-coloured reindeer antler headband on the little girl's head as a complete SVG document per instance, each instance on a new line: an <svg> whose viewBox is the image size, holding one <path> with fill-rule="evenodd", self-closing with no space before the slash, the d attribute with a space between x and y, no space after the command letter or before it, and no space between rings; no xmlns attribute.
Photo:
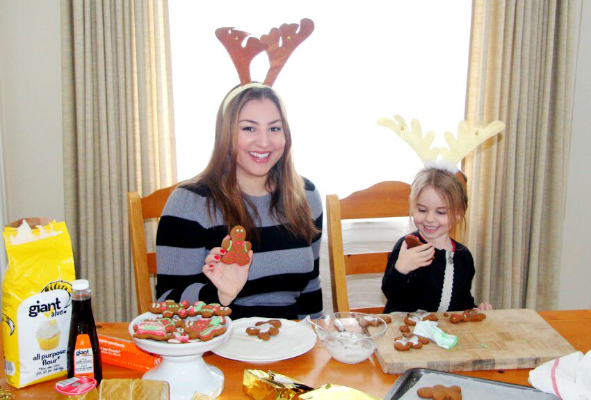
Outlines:
<svg viewBox="0 0 591 400"><path fill-rule="evenodd" d="M490 122L486 126L483 122L469 125L468 122L462 120L458 124L458 138L455 138L450 131L446 131L445 140L448 147L431 148L435 133L428 131L423 136L421 124L417 120L410 121L411 129L408 129L408 125L400 115L394 115L394 120L380 118L378 124L395 131L403 141L412 147L425 166L446 170L453 174L458 172L458 163L469 152L505 129L505 124L499 120ZM439 157L440 155L441 157Z"/></svg>

